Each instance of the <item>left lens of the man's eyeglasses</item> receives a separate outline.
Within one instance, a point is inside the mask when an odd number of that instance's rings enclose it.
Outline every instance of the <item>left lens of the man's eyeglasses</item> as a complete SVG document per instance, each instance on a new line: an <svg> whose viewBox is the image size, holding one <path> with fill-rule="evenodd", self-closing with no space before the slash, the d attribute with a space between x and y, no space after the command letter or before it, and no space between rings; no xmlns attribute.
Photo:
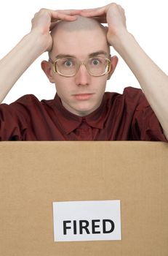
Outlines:
<svg viewBox="0 0 168 256"><path fill-rule="evenodd" d="M56 61L57 72L61 75L75 75L78 69L78 61L76 59L58 59Z"/></svg>

